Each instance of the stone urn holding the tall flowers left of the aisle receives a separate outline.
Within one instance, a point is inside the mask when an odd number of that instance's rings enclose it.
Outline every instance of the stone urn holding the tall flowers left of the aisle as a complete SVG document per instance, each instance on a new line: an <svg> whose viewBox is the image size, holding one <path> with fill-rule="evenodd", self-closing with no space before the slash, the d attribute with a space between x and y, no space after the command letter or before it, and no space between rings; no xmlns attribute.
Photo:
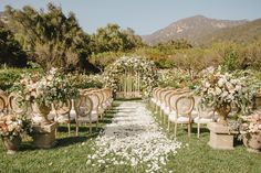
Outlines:
<svg viewBox="0 0 261 173"><path fill-rule="evenodd" d="M45 126L45 125L51 125L52 122L48 119L48 115L51 111L51 106L45 106L45 105L39 105L38 102L32 104L32 109L35 113L39 113L41 116L40 123Z"/></svg>

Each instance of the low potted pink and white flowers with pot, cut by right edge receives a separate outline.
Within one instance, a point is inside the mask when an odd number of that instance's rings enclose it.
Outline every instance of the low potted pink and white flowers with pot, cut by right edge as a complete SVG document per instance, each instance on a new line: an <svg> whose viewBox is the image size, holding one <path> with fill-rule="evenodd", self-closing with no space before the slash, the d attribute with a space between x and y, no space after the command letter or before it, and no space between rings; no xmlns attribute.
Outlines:
<svg viewBox="0 0 261 173"><path fill-rule="evenodd" d="M242 116L240 133L248 151L261 151L261 110Z"/></svg>

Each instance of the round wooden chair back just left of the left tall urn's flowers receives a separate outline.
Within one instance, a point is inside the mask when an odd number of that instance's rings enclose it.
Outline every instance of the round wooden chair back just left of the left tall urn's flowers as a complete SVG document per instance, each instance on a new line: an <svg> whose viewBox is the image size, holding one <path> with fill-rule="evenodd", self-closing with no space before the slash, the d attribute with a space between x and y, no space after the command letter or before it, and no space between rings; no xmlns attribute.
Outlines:
<svg viewBox="0 0 261 173"><path fill-rule="evenodd" d="M8 105L10 111L15 115L25 115L29 110L29 105L23 101L23 97L14 93L9 95Z"/></svg>

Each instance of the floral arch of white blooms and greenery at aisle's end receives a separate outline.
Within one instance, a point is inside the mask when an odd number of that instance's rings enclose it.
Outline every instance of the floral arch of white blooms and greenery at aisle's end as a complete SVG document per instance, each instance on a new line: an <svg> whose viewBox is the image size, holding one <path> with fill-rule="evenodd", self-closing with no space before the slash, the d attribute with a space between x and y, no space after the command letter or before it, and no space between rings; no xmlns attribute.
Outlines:
<svg viewBox="0 0 261 173"><path fill-rule="evenodd" d="M119 80L126 73L138 73L143 96L149 96L157 86L157 69L154 62L142 57L123 56L114 64L107 66L104 73L105 87L113 88L114 93L119 89Z"/></svg>

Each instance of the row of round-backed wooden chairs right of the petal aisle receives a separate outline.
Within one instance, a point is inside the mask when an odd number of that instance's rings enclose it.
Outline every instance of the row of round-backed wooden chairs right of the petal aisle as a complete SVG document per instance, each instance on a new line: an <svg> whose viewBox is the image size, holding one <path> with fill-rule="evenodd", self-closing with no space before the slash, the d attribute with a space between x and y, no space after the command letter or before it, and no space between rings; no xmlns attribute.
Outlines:
<svg viewBox="0 0 261 173"><path fill-rule="evenodd" d="M168 122L170 131L174 123L175 137L179 123L188 126L188 136L191 133L192 123L197 123L198 138L200 134L200 125L215 121L217 115L213 108L202 108L200 97L196 96L188 88L161 88L156 87L153 90L150 102L156 113L160 115L164 123Z"/></svg>

